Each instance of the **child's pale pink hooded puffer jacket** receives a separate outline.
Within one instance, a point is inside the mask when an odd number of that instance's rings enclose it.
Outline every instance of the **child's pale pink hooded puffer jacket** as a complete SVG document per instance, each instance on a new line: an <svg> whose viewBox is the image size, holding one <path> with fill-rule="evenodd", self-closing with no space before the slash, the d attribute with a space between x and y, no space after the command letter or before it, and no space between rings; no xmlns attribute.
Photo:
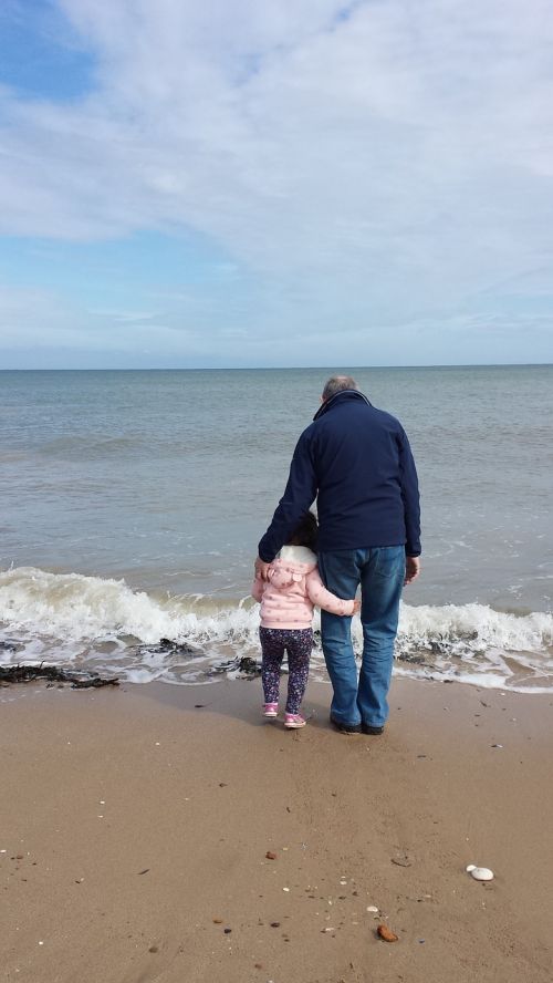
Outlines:
<svg viewBox="0 0 553 983"><path fill-rule="evenodd" d="M304 546L283 546L269 567L269 580L255 579L251 592L261 601L263 628L311 628L315 604L331 614L353 614L353 600L326 590L316 556Z"/></svg>

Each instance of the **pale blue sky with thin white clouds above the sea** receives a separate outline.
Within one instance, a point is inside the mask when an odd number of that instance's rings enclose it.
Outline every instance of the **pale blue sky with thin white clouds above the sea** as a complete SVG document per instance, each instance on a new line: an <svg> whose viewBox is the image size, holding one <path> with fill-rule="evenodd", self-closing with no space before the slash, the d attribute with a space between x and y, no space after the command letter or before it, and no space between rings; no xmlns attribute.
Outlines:
<svg viewBox="0 0 553 983"><path fill-rule="evenodd" d="M551 0L2 0L0 368L517 362Z"/></svg>

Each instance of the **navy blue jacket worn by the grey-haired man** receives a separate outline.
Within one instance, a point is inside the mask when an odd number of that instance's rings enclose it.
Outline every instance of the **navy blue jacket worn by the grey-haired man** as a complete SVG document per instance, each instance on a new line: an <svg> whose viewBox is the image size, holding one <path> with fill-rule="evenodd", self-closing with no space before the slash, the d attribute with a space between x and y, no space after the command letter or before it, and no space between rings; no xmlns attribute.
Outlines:
<svg viewBox="0 0 553 983"><path fill-rule="evenodd" d="M319 549L400 546L420 553L417 472L406 433L366 396L345 390L327 400L298 441L290 477L259 544L271 562L317 498Z"/></svg>

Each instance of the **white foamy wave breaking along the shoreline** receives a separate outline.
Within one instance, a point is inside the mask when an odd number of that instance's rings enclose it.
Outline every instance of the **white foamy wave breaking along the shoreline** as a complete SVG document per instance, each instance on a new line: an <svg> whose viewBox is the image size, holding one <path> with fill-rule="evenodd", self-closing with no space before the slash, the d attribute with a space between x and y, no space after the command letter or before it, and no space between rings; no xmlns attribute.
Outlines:
<svg viewBox="0 0 553 983"><path fill-rule="evenodd" d="M133 682L201 683L225 661L258 656L257 604L155 597L124 580L22 567L0 573L0 661L63 661ZM315 618L315 629L319 618ZM168 639L185 649L159 648ZM362 648L361 623L354 641ZM484 604L401 607L397 672L524 692L553 690L553 615ZM312 672L324 677L315 650Z"/></svg>

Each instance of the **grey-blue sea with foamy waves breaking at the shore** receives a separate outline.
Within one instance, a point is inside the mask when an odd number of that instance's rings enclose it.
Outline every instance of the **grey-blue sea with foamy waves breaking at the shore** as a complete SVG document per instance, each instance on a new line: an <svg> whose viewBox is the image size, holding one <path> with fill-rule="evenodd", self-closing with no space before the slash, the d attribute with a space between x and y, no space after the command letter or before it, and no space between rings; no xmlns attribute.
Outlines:
<svg viewBox="0 0 553 983"><path fill-rule="evenodd" d="M553 366L351 371L419 472L396 671L552 690ZM328 374L0 372L0 662L207 683L255 658L257 544Z"/></svg>

